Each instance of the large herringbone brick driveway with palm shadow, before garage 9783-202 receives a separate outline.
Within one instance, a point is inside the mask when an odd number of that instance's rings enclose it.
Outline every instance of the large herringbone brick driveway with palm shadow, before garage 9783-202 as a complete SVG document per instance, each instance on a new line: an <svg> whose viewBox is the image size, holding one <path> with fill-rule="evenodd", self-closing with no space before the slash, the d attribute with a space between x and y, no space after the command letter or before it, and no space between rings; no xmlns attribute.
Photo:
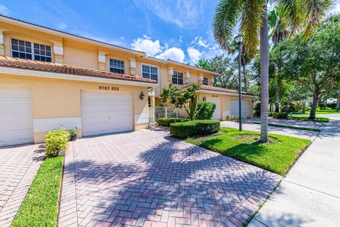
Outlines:
<svg viewBox="0 0 340 227"><path fill-rule="evenodd" d="M65 158L59 226L242 226L280 179L162 129L84 138Z"/></svg>

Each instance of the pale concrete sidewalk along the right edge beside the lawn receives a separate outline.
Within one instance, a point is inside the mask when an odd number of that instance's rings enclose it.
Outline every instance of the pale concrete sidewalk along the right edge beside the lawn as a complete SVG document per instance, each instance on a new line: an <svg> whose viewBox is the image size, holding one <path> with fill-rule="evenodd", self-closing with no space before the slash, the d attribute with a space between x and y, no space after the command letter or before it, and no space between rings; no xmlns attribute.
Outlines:
<svg viewBox="0 0 340 227"><path fill-rule="evenodd" d="M340 119L334 118L249 226L339 226Z"/></svg>

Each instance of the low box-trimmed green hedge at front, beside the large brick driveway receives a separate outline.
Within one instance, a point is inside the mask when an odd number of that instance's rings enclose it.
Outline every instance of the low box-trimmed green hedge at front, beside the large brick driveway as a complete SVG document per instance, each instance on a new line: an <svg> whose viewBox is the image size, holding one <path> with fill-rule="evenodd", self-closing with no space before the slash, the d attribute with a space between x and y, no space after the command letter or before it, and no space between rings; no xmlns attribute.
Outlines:
<svg viewBox="0 0 340 227"><path fill-rule="evenodd" d="M170 133L175 137L186 138L192 135L209 135L217 133L220 129L220 121L196 120L181 123L171 123Z"/></svg>

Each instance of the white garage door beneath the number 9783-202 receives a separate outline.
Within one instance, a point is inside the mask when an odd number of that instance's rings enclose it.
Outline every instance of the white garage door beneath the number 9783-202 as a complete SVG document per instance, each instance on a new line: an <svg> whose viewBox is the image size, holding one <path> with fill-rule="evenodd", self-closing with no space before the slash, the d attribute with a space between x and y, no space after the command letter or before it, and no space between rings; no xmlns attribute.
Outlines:
<svg viewBox="0 0 340 227"><path fill-rule="evenodd" d="M84 136L132 131L131 95L81 92L81 122Z"/></svg>

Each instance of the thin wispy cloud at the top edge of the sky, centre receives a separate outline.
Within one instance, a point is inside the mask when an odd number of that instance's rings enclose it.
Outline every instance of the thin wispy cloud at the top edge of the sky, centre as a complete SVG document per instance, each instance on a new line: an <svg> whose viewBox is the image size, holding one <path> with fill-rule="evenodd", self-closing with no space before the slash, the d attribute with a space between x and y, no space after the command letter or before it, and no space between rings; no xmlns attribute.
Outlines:
<svg viewBox="0 0 340 227"><path fill-rule="evenodd" d="M135 0L135 5L166 23L174 23L180 28L193 28L203 18L203 1L196 0Z"/></svg>

